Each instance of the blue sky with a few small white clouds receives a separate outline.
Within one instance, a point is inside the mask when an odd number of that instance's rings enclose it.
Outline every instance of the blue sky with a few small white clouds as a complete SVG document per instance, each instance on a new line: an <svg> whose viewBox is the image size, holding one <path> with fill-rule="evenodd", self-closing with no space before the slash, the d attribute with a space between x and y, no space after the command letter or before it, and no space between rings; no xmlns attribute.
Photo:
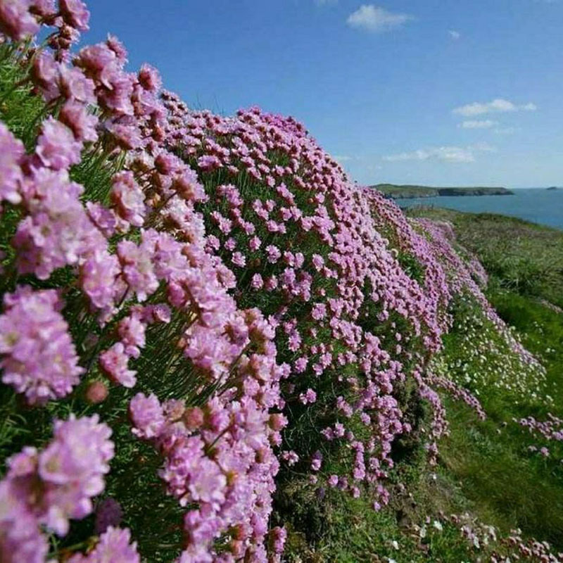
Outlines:
<svg viewBox="0 0 563 563"><path fill-rule="evenodd" d="M91 0L189 105L293 115L362 184L563 185L563 0Z"/></svg>

